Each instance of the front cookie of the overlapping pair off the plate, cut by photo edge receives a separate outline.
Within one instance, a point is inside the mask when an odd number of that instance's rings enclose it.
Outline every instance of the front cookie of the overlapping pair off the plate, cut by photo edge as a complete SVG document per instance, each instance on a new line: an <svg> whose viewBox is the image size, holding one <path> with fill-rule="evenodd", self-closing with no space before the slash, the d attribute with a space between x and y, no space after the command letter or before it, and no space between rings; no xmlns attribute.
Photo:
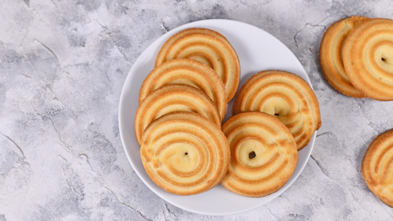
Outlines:
<svg viewBox="0 0 393 221"><path fill-rule="evenodd" d="M358 25L344 44L343 61L356 89L376 100L393 100L393 20Z"/></svg>

